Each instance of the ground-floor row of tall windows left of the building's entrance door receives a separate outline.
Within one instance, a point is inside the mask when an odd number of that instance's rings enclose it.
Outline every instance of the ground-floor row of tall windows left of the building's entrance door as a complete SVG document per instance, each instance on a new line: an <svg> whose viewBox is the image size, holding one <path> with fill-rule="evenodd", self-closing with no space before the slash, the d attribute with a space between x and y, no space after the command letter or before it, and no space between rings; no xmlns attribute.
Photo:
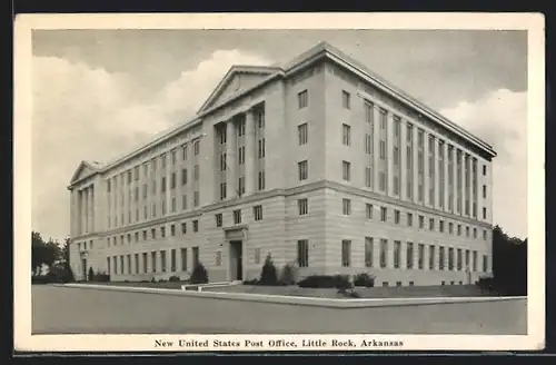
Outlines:
<svg viewBox="0 0 556 365"><path fill-rule="evenodd" d="M170 249L170 265L167 263L167 250L136 253L107 257L109 274L147 274L147 273L178 273L188 270L188 248ZM191 247L191 268L199 263L199 247ZM220 256L221 257L221 256ZM160 260L159 260L160 259ZM220 259L221 262L221 259ZM149 265L150 263L150 265ZM158 264L160 263L160 266ZM168 267L169 266L169 267Z"/></svg>

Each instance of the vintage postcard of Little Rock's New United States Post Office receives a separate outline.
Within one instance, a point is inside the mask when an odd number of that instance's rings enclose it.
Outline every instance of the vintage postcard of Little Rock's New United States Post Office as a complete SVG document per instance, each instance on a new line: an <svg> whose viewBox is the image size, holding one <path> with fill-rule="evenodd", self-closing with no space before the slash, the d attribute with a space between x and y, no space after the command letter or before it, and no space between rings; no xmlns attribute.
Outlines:
<svg viewBox="0 0 556 365"><path fill-rule="evenodd" d="M17 351L544 347L542 14L14 34Z"/></svg>

